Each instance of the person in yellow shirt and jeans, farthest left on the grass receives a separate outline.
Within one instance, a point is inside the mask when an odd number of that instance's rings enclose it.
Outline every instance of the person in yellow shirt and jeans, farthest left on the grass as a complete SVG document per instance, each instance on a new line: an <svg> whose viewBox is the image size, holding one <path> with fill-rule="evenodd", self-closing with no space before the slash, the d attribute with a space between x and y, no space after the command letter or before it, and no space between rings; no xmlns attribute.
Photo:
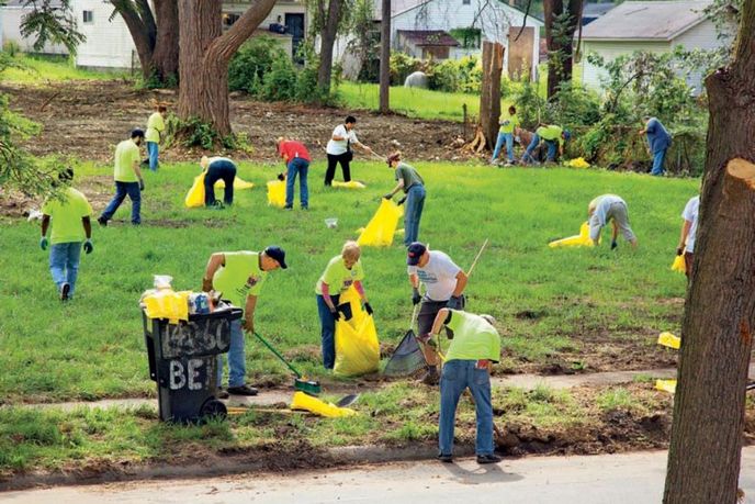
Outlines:
<svg viewBox="0 0 755 504"><path fill-rule="evenodd" d="M70 184L74 180L74 170L68 168L59 176L60 182ZM49 272L57 287L60 301L74 298L76 279L79 273L79 260L81 259L81 244L87 254L94 250L92 245L92 224L90 216L92 206L87 198L72 187L68 186L60 199L49 199L42 205L42 238L40 248L49 248ZM47 239L47 229L50 222L53 232ZM86 239L86 242L84 242Z"/></svg>

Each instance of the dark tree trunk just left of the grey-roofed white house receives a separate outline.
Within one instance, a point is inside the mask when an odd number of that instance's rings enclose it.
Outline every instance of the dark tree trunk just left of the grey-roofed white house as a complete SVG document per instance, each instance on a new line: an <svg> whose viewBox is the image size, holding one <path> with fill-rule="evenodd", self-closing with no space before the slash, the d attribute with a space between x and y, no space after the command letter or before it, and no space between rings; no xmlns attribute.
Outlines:
<svg viewBox="0 0 755 504"><path fill-rule="evenodd" d="M548 46L548 98L559 91L561 82L572 80L574 68L574 32L582 20L584 0L545 0L545 44ZM554 30L556 18L568 9L565 26Z"/></svg>

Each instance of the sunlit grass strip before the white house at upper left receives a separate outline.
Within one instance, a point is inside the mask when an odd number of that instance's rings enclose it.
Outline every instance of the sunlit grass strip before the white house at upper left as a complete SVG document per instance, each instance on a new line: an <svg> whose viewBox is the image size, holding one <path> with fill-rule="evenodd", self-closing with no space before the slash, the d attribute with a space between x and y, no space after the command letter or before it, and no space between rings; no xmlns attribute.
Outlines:
<svg viewBox="0 0 755 504"><path fill-rule="evenodd" d="M9 68L0 74L3 82L41 85L49 81L108 80L124 77L124 71L104 72L77 68L72 60L19 53L14 58L25 69Z"/></svg>

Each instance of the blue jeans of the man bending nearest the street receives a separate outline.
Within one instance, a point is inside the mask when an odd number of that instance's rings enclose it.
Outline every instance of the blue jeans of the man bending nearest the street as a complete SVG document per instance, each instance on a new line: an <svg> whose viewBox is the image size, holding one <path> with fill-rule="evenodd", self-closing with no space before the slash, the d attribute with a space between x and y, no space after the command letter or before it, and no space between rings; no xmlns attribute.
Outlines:
<svg viewBox="0 0 755 504"><path fill-rule="evenodd" d="M438 445L443 455L453 453L453 426L459 397L470 389L477 418L477 455L493 453L493 405L487 369L476 369L476 360L449 360L440 377L440 426Z"/></svg>

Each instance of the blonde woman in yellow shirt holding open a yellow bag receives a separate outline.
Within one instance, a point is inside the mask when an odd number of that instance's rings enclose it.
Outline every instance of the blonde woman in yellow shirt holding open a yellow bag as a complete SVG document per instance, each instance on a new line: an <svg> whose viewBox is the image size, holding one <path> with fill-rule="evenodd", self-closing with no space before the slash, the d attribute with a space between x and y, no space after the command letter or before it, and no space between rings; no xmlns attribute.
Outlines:
<svg viewBox="0 0 755 504"><path fill-rule="evenodd" d="M361 250L357 242L347 242L343 244L341 254L330 259L328 266L325 268L317 285L315 293L317 294L317 312L319 313L320 323L320 341L323 346L323 366L325 369L333 369L336 365L336 322L340 320L339 312L340 295L345 293L351 285L357 289L359 296L364 303L364 311L372 315L372 306L367 300L362 280L364 279L364 270L362 269L362 261L360 260ZM347 320L350 316L347 317Z"/></svg>

